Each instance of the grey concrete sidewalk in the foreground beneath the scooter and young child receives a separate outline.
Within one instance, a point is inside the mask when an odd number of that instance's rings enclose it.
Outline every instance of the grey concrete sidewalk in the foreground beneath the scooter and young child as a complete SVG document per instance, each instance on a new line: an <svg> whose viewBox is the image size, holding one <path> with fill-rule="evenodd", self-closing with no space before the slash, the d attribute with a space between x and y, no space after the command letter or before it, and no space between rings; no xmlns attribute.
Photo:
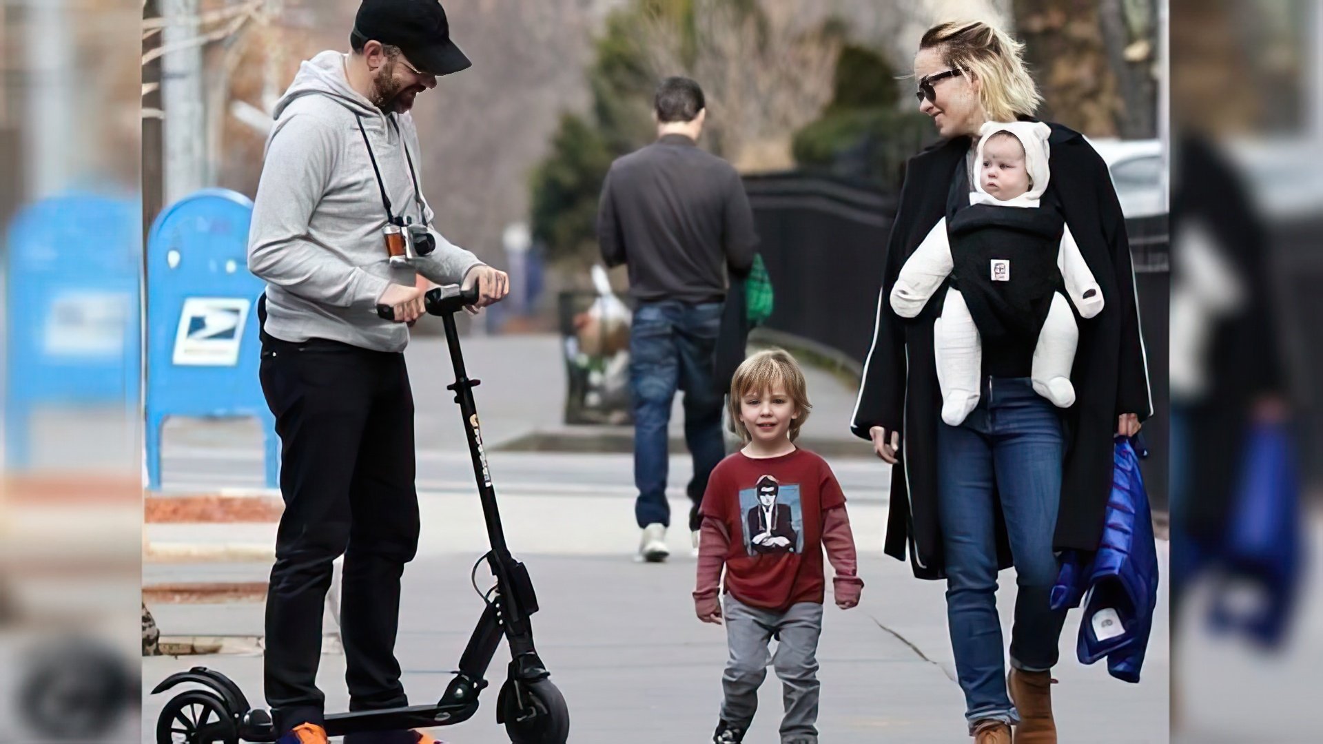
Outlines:
<svg viewBox="0 0 1323 744"><path fill-rule="evenodd" d="M1166 555L1166 543L1162 544ZM476 621L482 601L468 584L475 555L430 555L405 573L401 635L397 645L411 700L438 695ZM689 592L693 560L631 563L627 555L534 555L521 557L532 572L542 610L534 616L538 650L572 711L572 741L704 741L716 725L721 700L725 638L720 628L693 617ZM157 576L165 567L153 569ZM261 577L266 565L229 567L230 577ZM848 612L827 608L819 650L823 740L845 743L954 743L966 739L963 699L954 682L946 633L945 585L918 581L909 568L865 553L860 575L868 582L863 604ZM487 582L479 581L486 588ZM1002 617L1011 617L1013 575L1002 577ZM262 606L160 605L164 633L261 631ZM1061 680L1054 703L1061 740L1072 744L1167 741L1167 617L1155 622L1144 679L1126 684L1103 665L1074 661L1078 613L1062 637ZM328 626L333 633L333 625ZM505 650L488 674L503 679ZM233 676L250 699L261 700L259 655L159 657L144 659L143 683L204 665ZM344 708L344 658L321 659L321 686L329 708ZM779 684L769 673L762 706L747 741L774 741ZM508 741L493 719L495 690L471 721L435 733L446 741ZM144 700L144 728L155 725L164 696ZM1125 711L1125 715L1118 715ZM144 736L144 743L152 741Z"/></svg>

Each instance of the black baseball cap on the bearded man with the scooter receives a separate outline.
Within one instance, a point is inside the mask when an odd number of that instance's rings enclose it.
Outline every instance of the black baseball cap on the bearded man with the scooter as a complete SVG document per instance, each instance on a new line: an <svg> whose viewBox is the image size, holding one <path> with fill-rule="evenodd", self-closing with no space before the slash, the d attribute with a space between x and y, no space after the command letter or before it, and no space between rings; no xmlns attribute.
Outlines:
<svg viewBox="0 0 1323 744"><path fill-rule="evenodd" d="M450 40L439 0L363 0L353 21L355 41L398 46L419 71L448 75L472 66Z"/></svg>

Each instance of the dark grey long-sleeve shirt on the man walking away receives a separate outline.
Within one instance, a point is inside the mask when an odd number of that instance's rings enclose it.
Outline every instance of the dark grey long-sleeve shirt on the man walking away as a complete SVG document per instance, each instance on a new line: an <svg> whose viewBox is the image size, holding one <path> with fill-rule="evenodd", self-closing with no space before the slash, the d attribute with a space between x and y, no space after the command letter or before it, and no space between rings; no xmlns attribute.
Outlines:
<svg viewBox="0 0 1323 744"><path fill-rule="evenodd" d="M758 244L740 173L684 135L611 164L597 238L607 266L628 266L630 295L642 302L720 301L726 269L747 274Z"/></svg>

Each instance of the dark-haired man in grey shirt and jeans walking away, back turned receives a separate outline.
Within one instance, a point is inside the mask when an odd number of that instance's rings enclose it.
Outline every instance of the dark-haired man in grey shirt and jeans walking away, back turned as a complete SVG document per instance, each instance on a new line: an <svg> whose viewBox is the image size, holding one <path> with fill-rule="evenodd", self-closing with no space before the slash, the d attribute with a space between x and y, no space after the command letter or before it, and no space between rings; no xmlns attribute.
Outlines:
<svg viewBox="0 0 1323 744"><path fill-rule="evenodd" d="M706 120L703 89L672 77L655 98L658 140L611 164L597 233L607 266L626 263L636 302L630 335L634 396L635 516L640 560L665 560L667 429L684 391L684 440L693 455L687 492L697 540L708 475L725 457L721 410L729 381L713 380L713 349L728 274L744 277L758 242L740 173L699 150Z"/></svg>

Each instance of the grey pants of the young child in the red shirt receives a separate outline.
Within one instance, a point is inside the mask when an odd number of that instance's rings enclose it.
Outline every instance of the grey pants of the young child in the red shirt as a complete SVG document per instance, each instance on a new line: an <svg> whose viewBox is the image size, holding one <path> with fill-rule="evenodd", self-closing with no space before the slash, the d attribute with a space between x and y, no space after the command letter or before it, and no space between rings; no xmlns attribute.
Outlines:
<svg viewBox="0 0 1323 744"><path fill-rule="evenodd" d="M781 641L771 663L781 679L786 706L781 741L816 744L818 637L823 629L823 606L800 602L786 612L773 612L750 608L730 594L724 604L730 659L721 675L725 691L721 720L749 728L758 710L758 686L767 676L767 643L778 634Z"/></svg>

